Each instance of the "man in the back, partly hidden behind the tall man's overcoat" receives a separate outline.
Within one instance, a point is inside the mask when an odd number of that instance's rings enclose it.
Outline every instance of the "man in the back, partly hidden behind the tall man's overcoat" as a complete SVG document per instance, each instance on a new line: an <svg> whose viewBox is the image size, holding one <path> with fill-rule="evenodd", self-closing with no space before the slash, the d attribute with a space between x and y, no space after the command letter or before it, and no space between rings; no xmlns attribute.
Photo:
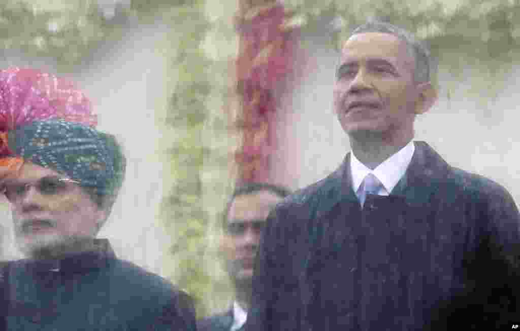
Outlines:
<svg viewBox="0 0 520 331"><path fill-rule="evenodd" d="M253 262L267 215L289 190L264 183L235 189L223 218L222 252L226 270L235 286L235 300L226 312L198 322L198 331L241 331L251 302Z"/></svg>

